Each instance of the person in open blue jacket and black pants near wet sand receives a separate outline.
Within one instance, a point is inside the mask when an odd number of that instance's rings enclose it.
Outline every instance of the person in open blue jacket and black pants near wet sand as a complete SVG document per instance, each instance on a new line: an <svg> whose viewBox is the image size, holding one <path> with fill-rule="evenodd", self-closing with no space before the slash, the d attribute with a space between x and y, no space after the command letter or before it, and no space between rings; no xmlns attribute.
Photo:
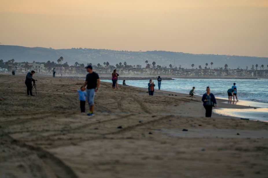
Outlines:
<svg viewBox="0 0 268 178"><path fill-rule="evenodd" d="M212 107L217 107L217 101L214 94L210 93L210 88L207 87L207 92L202 97L203 106L206 109L206 117L211 117Z"/></svg>

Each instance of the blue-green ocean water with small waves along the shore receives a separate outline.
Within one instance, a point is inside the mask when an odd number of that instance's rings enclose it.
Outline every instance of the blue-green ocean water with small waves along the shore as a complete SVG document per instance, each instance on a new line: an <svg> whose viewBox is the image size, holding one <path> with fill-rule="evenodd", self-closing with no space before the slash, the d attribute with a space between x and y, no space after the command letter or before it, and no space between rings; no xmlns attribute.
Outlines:
<svg viewBox="0 0 268 178"><path fill-rule="evenodd" d="M112 82L112 80L102 80L103 82ZM130 86L148 88L148 80L127 80L126 84ZM118 80L119 84L123 80ZM158 89L157 81L155 80L156 90ZM186 93L195 86L195 93L203 95L206 92L206 87L210 87L216 97L228 98L227 90L232 88L233 83L236 83L238 99L247 101L256 101L268 103L268 79L175 79L163 80L161 90Z"/></svg>

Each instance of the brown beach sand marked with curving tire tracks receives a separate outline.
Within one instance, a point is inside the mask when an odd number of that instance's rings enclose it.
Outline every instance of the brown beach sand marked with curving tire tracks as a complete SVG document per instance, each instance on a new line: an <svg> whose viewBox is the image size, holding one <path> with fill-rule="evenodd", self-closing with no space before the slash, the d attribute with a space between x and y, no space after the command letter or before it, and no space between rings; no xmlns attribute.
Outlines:
<svg viewBox="0 0 268 178"><path fill-rule="evenodd" d="M70 91L83 80L34 78L26 96L25 75L0 75L0 177L268 177L268 123L204 118L200 97L104 82L89 117Z"/></svg>

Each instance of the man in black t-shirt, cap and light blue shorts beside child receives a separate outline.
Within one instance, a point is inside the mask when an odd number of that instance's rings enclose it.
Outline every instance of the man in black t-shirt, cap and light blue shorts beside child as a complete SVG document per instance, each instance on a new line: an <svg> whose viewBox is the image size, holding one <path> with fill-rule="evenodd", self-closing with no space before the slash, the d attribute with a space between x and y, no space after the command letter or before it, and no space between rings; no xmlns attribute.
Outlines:
<svg viewBox="0 0 268 178"><path fill-rule="evenodd" d="M95 92L98 91L99 88L99 75L95 72L93 72L92 70L92 66L88 65L86 68L86 71L88 71L88 75L86 75L86 81L82 87L82 90L85 89L86 85L86 98L88 101L88 105L89 105L89 113L87 115L94 115L93 111L94 111L94 95Z"/></svg>

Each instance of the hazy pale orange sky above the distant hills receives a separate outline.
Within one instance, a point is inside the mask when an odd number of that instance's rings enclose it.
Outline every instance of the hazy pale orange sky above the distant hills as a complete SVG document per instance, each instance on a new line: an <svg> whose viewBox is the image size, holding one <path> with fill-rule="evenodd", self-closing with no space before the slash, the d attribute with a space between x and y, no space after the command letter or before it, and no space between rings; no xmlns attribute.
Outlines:
<svg viewBox="0 0 268 178"><path fill-rule="evenodd" d="M0 0L0 42L268 57L268 0Z"/></svg>

